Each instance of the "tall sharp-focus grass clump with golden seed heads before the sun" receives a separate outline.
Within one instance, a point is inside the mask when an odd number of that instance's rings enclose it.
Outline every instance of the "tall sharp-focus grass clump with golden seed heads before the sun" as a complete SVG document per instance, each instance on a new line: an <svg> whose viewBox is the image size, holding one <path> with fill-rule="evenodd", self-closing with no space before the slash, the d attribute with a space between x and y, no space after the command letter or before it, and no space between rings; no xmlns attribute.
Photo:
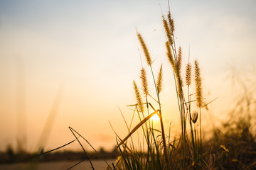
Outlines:
<svg viewBox="0 0 256 170"><path fill-rule="evenodd" d="M176 98L178 101L178 113L181 120L181 134L176 138L171 138L171 130L166 135L164 129L164 117L161 109L161 92L163 87L163 66L161 64L157 79L153 72L153 62L146 42L141 33L137 30L137 38L144 52L146 63L151 71L151 79L154 82L155 91L149 92L148 77L146 69L142 68L140 78L142 88L139 88L134 81L134 94L137 103L129 105L134 107L134 113L139 116L139 124L133 129L128 128L129 134L121 140L117 138L117 149L120 157L117 159L115 169L206 169L208 164L203 159L202 153L202 130L201 130L201 110L203 109L203 89L201 70L198 61L195 60L193 66L186 64L186 84L183 83L182 70L182 49L176 49L174 37L174 19L169 12L167 17L163 16L163 26L166 33L166 57L174 74L174 86L176 88ZM194 72L193 70L194 69ZM194 73L195 84L192 84L192 72ZM195 91L191 92L191 86ZM184 89L186 88L186 94ZM143 96L140 94L143 91ZM195 95L194 95L195 94ZM153 104L154 103L154 104ZM144 109L146 107L146 109ZM159 116L161 130L154 128L154 123L150 120L153 115ZM174 114L174 113L167 113ZM133 119L132 119L133 121ZM132 134L142 129L143 139L139 146L135 147ZM171 128L171 127L169 127ZM131 130L132 129L132 130ZM144 145L144 141L146 145Z"/></svg>

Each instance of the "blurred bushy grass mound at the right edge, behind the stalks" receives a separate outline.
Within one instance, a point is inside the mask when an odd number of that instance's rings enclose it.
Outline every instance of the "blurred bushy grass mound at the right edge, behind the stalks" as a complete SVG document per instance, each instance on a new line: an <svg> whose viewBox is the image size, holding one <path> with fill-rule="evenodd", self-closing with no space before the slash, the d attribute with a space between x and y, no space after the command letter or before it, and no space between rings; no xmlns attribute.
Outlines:
<svg viewBox="0 0 256 170"><path fill-rule="evenodd" d="M255 75L254 72L249 76ZM256 169L256 82L255 79L247 81L247 76L245 71L233 73L233 84L240 90L233 109L222 125L213 129L210 140L205 142L205 150L211 148L215 151L209 161L215 169Z"/></svg>

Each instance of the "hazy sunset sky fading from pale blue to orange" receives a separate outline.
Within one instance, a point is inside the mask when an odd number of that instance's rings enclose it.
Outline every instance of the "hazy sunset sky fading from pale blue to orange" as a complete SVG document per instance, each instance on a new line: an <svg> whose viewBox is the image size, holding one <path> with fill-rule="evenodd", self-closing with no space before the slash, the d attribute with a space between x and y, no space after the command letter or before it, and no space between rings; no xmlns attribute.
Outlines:
<svg viewBox="0 0 256 170"><path fill-rule="evenodd" d="M207 100L218 98L203 115L206 123L222 120L238 94L230 88L231 69L255 67L255 6L254 0L170 0L183 68L188 56L197 59ZM120 137L127 135L119 108L129 122L132 81L139 84L142 64L149 72L137 30L154 72L163 64L164 123L175 134L178 108L161 21L168 10L164 0L0 1L0 150L17 147L17 139L30 151L59 147L74 139L68 127L95 148L112 149L109 121Z"/></svg>

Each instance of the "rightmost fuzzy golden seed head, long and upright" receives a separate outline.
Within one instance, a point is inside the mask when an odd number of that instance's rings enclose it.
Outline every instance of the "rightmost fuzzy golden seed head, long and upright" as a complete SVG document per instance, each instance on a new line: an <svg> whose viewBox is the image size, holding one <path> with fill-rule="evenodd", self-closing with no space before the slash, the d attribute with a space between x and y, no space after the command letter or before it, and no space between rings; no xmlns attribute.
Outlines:
<svg viewBox="0 0 256 170"><path fill-rule="evenodd" d="M203 105L202 78L198 61L195 60L196 103L199 108Z"/></svg>

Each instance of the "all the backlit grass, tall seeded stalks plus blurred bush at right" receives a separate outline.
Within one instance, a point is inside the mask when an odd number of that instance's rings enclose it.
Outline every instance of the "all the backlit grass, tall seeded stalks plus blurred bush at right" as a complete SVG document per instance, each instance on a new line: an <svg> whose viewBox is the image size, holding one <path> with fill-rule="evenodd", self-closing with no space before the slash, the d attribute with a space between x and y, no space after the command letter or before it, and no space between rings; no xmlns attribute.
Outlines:
<svg viewBox="0 0 256 170"><path fill-rule="evenodd" d="M171 125L169 132L165 131L161 109L163 66L159 67L156 79L156 74L152 69L154 64L146 46L146 41L142 34L137 31L137 37L142 46L147 67L150 70L149 73L146 73L146 69L142 68L141 84L138 85L137 82L133 81L137 102L129 105L129 107L133 108L134 115L138 115L139 123L132 127L133 119L131 123L127 123L123 116L128 134L122 139L114 132L117 135L117 147L112 153L103 152L103 150L101 152L96 151L90 142L73 128L70 128L75 137L72 142L79 142L83 149L83 154L79 154L77 158L81 159L80 162L82 162L85 159L89 161L95 159L95 155L103 160L107 158L107 155L111 157L119 155L116 164L110 165L106 162L108 169L256 169L255 119L253 119L255 118L256 102L252 95L254 90L249 91L247 86L242 84L245 94L237 98L237 103L230 113L230 118L225 120L220 127L213 129L213 135L208 140L203 140L201 113L206 111L208 103L203 98L203 82L199 62L195 60L193 63L187 63L186 75L181 75L181 69L183 69L182 49L181 47L176 48L174 19L171 18L170 11L167 16L163 16L163 27L166 32L166 57L172 67L178 101L178 113L166 114L180 115L180 134L174 139L171 138ZM153 92L149 91L149 77L154 83L155 89ZM185 77L185 81L183 77ZM191 88L191 86L194 88ZM195 89L195 91L192 91L192 89ZM154 115L159 116L161 130L156 130L154 123L150 120ZM132 135L139 129L142 129L143 135L139 138L139 144L135 146ZM95 154L85 151L80 140L85 140L94 149ZM70 145L70 143L66 145ZM36 155L36 157L54 150L43 152ZM15 155L11 149L7 153L9 157ZM45 159L53 160L56 158L49 155ZM55 155L58 155L58 152ZM68 157L72 154L64 153L62 155ZM92 163L91 167L94 169Z"/></svg>

